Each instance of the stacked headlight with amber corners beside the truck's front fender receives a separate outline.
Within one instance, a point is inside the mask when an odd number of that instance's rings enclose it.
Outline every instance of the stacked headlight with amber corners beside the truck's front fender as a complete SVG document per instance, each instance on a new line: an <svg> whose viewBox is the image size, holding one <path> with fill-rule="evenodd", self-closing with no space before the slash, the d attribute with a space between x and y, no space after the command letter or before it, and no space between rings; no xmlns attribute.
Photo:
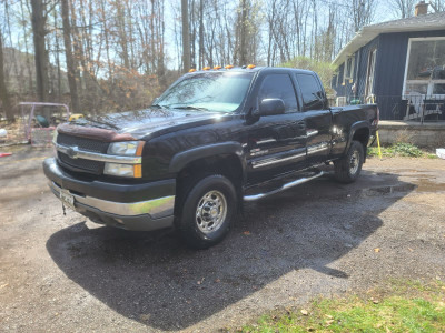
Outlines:
<svg viewBox="0 0 445 333"><path fill-rule="evenodd" d="M118 157L141 157L145 141L122 141L113 142L108 147L107 153L109 155ZM105 174L141 178L142 165L139 164L125 164L119 162L107 162L103 168Z"/></svg>

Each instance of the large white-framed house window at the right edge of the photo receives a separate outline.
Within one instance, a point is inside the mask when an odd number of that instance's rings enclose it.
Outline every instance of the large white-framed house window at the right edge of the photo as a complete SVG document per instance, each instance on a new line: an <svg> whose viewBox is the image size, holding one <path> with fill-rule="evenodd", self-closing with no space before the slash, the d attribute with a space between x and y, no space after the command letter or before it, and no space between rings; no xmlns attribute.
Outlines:
<svg viewBox="0 0 445 333"><path fill-rule="evenodd" d="M409 39L403 94L445 94L444 37Z"/></svg>

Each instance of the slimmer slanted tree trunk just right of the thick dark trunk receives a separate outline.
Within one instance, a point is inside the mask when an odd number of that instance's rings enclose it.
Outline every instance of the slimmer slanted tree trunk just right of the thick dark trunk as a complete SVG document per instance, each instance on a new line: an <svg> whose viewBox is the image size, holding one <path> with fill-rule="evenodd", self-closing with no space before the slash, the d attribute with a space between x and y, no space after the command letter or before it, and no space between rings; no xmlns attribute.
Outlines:
<svg viewBox="0 0 445 333"><path fill-rule="evenodd" d="M71 24L69 22L68 0L61 0L61 7L62 7L62 23L63 23L65 57L67 59L67 70L68 70L68 84L70 88L72 110L75 113L79 113L80 102L79 102L79 94L77 92L75 60L72 57Z"/></svg>

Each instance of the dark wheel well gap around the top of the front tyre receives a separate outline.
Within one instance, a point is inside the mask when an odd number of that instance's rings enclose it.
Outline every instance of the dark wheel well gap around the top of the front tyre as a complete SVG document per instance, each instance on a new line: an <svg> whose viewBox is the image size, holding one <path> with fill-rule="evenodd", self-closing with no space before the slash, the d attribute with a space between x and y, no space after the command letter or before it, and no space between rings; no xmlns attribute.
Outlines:
<svg viewBox="0 0 445 333"><path fill-rule="evenodd" d="M209 174L221 174L228 178L237 190L238 198L241 198L243 165L235 154L221 154L204 158L188 163L176 178L176 193L178 204L185 199L185 194L191 190L198 179ZM175 204L176 205L176 204ZM177 211L175 208L175 212Z"/></svg>

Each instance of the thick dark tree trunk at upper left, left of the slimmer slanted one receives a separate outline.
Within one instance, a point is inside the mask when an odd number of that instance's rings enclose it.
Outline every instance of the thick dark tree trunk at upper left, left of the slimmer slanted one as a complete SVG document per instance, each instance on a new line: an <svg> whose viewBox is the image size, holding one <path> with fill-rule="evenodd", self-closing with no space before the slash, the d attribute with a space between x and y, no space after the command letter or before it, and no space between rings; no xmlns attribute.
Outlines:
<svg viewBox="0 0 445 333"><path fill-rule="evenodd" d="M44 37L47 34L44 24L47 21L43 16L43 1L31 1L32 7L32 32L34 41L34 61L36 61L36 83L37 97L40 102L48 101L49 79L48 79L48 51Z"/></svg>

